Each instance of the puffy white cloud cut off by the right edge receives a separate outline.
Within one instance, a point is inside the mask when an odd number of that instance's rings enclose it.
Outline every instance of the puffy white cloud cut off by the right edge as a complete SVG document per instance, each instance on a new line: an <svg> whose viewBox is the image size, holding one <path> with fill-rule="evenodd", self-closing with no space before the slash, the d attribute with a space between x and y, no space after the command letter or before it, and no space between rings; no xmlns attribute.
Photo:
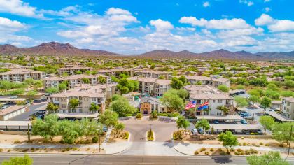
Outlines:
<svg viewBox="0 0 294 165"><path fill-rule="evenodd" d="M276 20L269 15L262 14L255 20L257 26L267 26L272 32L294 31L294 21L292 20Z"/></svg>

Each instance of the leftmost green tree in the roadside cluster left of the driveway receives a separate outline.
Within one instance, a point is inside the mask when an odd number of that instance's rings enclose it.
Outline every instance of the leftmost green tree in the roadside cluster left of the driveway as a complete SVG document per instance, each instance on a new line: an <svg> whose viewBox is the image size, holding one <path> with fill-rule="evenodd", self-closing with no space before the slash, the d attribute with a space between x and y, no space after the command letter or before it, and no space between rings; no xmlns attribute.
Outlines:
<svg viewBox="0 0 294 165"><path fill-rule="evenodd" d="M32 123L32 134L42 136L46 139L53 140L54 136L59 134L57 115L46 115L44 120L37 119Z"/></svg>

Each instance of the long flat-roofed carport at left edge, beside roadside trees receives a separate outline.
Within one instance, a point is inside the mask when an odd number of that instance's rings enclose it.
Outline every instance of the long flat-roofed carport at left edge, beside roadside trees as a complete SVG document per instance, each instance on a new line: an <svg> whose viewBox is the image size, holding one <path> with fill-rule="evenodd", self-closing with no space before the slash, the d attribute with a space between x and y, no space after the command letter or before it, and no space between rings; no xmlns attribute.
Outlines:
<svg viewBox="0 0 294 165"><path fill-rule="evenodd" d="M31 121L0 121L0 129L3 131L27 131L31 129Z"/></svg>

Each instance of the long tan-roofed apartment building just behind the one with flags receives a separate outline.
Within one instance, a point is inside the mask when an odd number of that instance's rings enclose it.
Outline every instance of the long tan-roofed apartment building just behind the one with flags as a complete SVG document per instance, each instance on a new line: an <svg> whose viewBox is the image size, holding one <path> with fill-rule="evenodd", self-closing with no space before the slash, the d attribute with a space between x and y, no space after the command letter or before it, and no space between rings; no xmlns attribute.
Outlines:
<svg viewBox="0 0 294 165"><path fill-rule="evenodd" d="M206 76L186 76L186 79L191 84L201 83L201 85L210 85L211 87L218 87L219 85L226 85L230 87L230 80L228 78L221 77L206 77Z"/></svg>

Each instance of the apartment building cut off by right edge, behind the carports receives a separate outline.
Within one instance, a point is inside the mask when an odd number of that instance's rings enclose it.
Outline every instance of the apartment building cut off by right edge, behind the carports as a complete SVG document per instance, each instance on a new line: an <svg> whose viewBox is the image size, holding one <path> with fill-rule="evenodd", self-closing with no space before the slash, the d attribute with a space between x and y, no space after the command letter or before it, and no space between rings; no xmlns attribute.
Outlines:
<svg viewBox="0 0 294 165"><path fill-rule="evenodd" d="M294 120L294 97L283 97L281 113L284 117Z"/></svg>

